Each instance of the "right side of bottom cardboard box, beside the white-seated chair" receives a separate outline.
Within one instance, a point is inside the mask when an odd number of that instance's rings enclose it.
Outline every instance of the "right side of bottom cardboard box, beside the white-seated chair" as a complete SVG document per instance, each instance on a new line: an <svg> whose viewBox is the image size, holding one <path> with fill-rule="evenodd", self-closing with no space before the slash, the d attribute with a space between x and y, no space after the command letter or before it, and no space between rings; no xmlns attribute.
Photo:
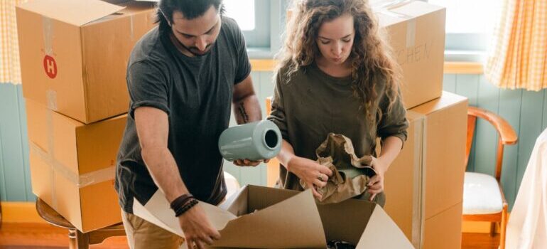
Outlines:
<svg viewBox="0 0 547 249"><path fill-rule="evenodd" d="M423 248L462 248L462 203L426 220Z"/></svg>

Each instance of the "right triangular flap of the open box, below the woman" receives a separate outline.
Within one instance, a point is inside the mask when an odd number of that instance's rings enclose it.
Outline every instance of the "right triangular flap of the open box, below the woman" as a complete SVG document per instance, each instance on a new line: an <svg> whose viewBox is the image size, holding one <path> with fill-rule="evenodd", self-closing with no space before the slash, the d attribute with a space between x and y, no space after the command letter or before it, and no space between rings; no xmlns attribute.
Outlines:
<svg viewBox="0 0 547 249"><path fill-rule="evenodd" d="M372 211L367 228L357 244L365 248L414 248L404 233L387 215L384 209L377 206Z"/></svg>

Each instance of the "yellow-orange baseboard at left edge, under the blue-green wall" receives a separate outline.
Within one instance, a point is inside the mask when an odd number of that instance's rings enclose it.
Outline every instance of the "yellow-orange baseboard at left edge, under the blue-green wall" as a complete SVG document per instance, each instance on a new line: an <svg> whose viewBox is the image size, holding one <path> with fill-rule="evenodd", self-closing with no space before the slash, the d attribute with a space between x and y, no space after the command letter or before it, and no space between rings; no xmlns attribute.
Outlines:
<svg viewBox="0 0 547 249"><path fill-rule="evenodd" d="M2 223L46 223L34 202L2 201Z"/></svg>

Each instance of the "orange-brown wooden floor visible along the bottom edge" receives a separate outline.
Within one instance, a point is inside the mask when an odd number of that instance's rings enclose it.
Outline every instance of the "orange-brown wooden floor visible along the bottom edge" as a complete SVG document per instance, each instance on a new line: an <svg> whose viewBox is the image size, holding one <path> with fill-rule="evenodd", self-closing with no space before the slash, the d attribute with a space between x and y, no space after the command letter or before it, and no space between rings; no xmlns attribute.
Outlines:
<svg viewBox="0 0 547 249"><path fill-rule="evenodd" d="M0 228L0 249L65 249L67 245L67 231L63 228L33 223L4 223ZM487 233L464 233L462 236L462 248L465 249L497 249L498 245L499 236L490 238ZM90 248L129 247L125 237L114 237Z"/></svg>

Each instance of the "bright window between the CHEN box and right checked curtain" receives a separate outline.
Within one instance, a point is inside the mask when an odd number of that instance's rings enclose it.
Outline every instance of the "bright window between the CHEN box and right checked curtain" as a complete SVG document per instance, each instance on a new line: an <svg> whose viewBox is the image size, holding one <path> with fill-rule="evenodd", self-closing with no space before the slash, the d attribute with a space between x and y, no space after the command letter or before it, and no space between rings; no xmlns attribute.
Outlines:
<svg viewBox="0 0 547 249"><path fill-rule="evenodd" d="M480 61L501 9L499 0L428 0L446 7L445 60Z"/></svg>

